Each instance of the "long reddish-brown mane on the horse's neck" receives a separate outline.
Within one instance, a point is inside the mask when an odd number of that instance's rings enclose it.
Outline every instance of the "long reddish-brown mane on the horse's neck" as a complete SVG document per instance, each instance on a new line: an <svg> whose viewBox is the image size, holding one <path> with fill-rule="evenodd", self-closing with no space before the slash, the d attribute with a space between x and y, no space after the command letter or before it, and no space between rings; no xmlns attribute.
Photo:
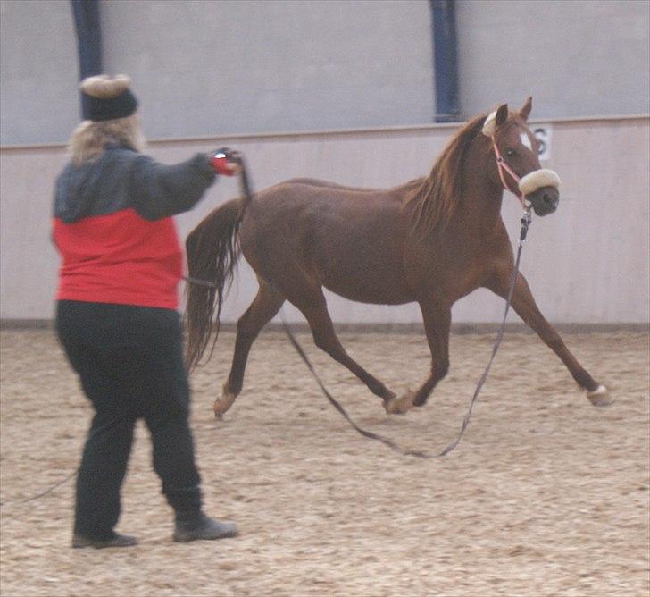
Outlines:
<svg viewBox="0 0 650 597"><path fill-rule="evenodd" d="M405 205L413 208L416 226L422 231L444 228L454 216L462 192L462 163L485 118L481 114L462 127L437 158L429 176L406 197Z"/></svg>

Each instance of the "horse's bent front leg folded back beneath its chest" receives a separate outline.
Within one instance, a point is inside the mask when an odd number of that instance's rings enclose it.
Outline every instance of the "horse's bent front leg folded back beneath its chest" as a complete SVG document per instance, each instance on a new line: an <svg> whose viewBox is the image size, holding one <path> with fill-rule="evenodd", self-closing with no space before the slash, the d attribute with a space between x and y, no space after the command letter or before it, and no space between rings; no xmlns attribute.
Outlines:
<svg viewBox="0 0 650 597"><path fill-rule="evenodd" d="M431 374L420 388L385 404L387 413L405 413L412 407L423 406L436 384L449 370L449 329L452 323L451 307L434 300L421 300L420 308L424 331L431 351Z"/></svg>

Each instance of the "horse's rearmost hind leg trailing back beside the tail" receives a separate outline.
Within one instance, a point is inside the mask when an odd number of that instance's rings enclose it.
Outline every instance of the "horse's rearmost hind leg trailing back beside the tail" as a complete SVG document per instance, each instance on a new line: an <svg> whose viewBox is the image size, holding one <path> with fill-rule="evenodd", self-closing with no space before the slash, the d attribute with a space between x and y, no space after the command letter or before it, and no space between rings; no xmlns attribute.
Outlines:
<svg viewBox="0 0 650 597"><path fill-rule="evenodd" d="M258 279L260 290L246 313L237 322L237 338L235 352L232 356L232 366L228 381L223 384L221 398L214 401L214 416L221 418L233 404L244 384L244 372L248 353L257 335L264 325L268 324L282 307L285 298L262 279Z"/></svg>

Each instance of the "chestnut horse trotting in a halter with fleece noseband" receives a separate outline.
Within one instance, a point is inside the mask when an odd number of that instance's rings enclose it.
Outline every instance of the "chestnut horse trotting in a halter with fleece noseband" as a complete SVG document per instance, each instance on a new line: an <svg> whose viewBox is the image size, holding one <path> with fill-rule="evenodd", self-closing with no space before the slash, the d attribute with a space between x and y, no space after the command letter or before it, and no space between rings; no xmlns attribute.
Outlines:
<svg viewBox="0 0 650 597"><path fill-rule="evenodd" d="M296 179L252 198L233 199L208 214L186 243L189 276L209 281L188 285L190 368L203 356L212 333L216 342L221 301L240 252L259 282L257 296L237 323L232 366L214 403L215 415L221 418L242 390L251 345L285 300L303 313L316 346L383 399L388 413L422 406L447 373L454 302L479 287L507 296L513 253L500 214L504 188L538 215L557 206L559 179L541 170L537 139L526 124L531 105L529 98L516 113L501 105L487 118L483 114L466 124L426 178L393 189ZM418 302L431 371L417 391L397 397L347 354L334 332L323 287L364 303ZM610 402L609 392L580 366L539 312L521 273L512 308L562 359L594 404Z"/></svg>

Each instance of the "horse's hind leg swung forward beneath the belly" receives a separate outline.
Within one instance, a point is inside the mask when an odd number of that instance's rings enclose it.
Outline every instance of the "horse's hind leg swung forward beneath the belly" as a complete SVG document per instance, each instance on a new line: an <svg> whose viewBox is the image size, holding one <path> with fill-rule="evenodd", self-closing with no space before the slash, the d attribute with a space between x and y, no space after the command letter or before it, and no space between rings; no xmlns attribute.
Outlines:
<svg viewBox="0 0 650 597"><path fill-rule="evenodd" d="M319 349L324 350L330 357L346 366L368 386L373 394L383 399L384 404L395 398L395 393L388 390L383 383L354 361L338 341L337 334L334 332L334 324L329 317L327 302L320 287L301 292L299 297L287 296L287 298L300 309L307 319L309 327L312 329L313 341Z"/></svg>

